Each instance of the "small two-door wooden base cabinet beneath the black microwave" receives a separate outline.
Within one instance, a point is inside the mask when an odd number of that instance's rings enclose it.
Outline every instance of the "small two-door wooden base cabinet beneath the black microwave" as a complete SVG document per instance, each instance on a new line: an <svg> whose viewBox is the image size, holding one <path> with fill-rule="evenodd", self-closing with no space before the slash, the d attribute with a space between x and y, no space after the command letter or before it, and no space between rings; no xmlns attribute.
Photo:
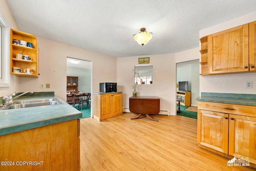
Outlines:
<svg viewBox="0 0 256 171"><path fill-rule="evenodd" d="M94 94L94 118L103 121L122 113L122 93Z"/></svg>

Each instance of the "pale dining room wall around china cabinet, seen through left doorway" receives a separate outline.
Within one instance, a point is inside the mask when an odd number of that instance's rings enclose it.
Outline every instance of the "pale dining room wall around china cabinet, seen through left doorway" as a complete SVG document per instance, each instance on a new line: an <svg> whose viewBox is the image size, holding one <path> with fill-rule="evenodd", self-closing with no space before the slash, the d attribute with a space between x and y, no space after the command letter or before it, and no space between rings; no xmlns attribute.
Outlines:
<svg viewBox="0 0 256 171"><path fill-rule="evenodd" d="M67 76L78 77L78 91L91 93L91 70L67 67Z"/></svg>

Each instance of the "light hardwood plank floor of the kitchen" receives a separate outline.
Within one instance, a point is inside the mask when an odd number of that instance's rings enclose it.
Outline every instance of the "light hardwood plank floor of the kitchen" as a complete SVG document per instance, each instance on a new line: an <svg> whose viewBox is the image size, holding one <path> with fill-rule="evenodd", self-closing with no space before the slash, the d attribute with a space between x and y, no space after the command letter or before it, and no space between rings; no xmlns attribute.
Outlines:
<svg viewBox="0 0 256 171"><path fill-rule="evenodd" d="M99 122L80 121L81 171L229 171L229 158L198 147L197 120L152 115L131 120L133 113Z"/></svg>

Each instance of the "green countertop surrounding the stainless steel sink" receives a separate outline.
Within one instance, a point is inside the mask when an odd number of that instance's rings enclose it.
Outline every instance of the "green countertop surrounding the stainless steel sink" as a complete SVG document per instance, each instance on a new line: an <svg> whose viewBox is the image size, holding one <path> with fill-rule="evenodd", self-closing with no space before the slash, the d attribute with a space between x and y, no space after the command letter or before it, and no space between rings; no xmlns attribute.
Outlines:
<svg viewBox="0 0 256 171"><path fill-rule="evenodd" d="M70 121L82 117L80 111L66 103L66 101L55 96L54 92L23 95L13 99L13 101L49 98L57 98L63 104L1 110L0 135Z"/></svg>

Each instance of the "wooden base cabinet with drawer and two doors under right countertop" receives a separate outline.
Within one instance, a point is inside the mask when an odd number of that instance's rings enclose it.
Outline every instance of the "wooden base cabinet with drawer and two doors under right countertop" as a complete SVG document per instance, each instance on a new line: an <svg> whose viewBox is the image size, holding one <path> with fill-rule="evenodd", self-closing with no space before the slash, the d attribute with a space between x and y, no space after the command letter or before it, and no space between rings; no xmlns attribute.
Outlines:
<svg viewBox="0 0 256 171"><path fill-rule="evenodd" d="M198 101L200 147L256 164L256 106Z"/></svg>

